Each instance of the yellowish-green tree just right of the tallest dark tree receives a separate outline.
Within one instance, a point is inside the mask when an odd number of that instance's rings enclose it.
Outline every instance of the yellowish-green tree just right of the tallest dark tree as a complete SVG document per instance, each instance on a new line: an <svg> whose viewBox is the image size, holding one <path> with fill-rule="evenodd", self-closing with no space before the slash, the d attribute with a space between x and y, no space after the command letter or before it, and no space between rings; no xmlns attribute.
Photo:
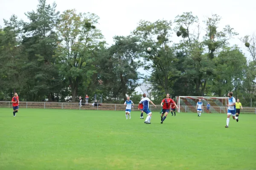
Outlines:
<svg viewBox="0 0 256 170"><path fill-rule="evenodd" d="M103 35L95 26L98 20L96 14L76 14L74 9L67 10L61 14L57 27L61 38L58 45L58 61L61 74L69 81L73 102L81 82L95 74L92 67L96 60L94 51L103 39Z"/></svg>

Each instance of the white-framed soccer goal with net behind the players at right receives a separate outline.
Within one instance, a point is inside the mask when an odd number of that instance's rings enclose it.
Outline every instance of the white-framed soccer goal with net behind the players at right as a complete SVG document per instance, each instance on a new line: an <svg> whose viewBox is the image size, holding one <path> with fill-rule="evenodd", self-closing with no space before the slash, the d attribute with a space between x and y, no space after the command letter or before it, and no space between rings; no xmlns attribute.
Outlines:
<svg viewBox="0 0 256 170"><path fill-rule="evenodd" d="M227 113L228 97L176 96L180 112L197 112L196 104L201 99L203 113ZM209 104L208 104L209 103ZM208 106L207 106L208 104Z"/></svg>

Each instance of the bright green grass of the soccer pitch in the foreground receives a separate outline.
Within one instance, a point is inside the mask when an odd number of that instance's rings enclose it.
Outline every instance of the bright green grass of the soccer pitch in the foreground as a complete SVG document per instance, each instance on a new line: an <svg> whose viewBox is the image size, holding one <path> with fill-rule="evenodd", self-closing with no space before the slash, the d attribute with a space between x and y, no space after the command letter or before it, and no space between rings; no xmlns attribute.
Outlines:
<svg viewBox="0 0 256 170"><path fill-rule="evenodd" d="M145 117L144 113L144 117ZM256 115L0 108L0 170L255 170Z"/></svg>

